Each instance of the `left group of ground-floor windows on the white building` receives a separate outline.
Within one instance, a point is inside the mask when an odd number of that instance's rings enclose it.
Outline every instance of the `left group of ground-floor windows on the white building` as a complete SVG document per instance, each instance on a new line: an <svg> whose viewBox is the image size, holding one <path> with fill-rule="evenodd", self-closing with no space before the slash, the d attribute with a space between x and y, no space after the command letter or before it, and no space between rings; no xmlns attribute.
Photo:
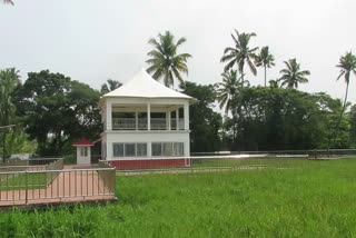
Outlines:
<svg viewBox="0 0 356 238"><path fill-rule="evenodd" d="M147 143L112 143L113 157L145 157Z"/></svg>

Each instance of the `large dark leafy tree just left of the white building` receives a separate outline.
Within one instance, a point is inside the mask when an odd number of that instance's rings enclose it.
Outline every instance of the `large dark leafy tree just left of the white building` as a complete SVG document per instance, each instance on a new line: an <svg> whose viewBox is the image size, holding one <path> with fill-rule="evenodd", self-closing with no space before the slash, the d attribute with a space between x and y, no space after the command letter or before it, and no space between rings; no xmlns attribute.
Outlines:
<svg viewBox="0 0 356 238"><path fill-rule="evenodd" d="M26 132L37 139L40 155L62 155L63 147L70 148L75 139L99 137L100 93L88 85L42 70L29 72L18 93L18 115Z"/></svg>

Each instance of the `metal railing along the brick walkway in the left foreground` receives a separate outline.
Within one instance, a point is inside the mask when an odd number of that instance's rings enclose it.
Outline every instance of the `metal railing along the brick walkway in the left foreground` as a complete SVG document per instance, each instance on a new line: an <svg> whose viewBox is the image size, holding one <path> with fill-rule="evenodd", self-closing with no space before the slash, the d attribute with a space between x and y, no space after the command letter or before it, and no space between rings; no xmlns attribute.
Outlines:
<svg viewBox="0 0 356 238"><path fill-rule="evenodd" d="M56 160L42 170L1 171L0 207L115 198L115 168L62 169L62 160Z"/></svg>

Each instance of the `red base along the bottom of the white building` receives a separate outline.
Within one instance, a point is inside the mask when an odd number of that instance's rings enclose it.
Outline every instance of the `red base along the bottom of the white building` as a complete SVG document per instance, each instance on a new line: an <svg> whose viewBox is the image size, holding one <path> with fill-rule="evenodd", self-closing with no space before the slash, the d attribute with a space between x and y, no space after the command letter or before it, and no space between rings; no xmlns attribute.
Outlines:
<svg viewBox="0 0 356 238"><path fill-rule="evenodd" d="M112 160L117 169L159 169L190 167L190 159Z"/></svg>

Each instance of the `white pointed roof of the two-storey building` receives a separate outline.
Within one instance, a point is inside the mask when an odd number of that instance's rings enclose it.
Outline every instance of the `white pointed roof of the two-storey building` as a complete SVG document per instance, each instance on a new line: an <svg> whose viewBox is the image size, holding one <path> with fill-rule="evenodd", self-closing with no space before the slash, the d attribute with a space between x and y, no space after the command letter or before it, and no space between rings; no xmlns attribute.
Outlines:
<svg viewBox="0 0 356 238"><path fill-rule="evenodd" d="M102 98L175 98L190 99L192 97L167 88L151 78L145 69L141 69L134 78L120 88L115 89L102 96Z"/></svg>

